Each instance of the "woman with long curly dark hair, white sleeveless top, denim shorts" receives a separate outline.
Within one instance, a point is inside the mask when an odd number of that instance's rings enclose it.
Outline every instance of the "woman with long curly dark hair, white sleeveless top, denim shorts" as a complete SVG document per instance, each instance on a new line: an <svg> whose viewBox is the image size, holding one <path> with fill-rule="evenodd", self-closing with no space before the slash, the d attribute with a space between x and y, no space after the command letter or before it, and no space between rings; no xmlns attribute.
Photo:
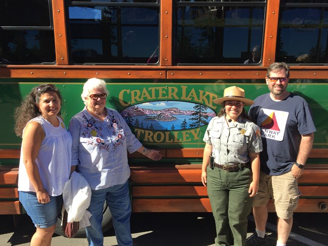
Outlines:
<svg viewBox="0 0 328 246"><path fill-rule="evenodd" d="M56 86L40 85L15 110L15 133L23 137L19 201L36 227L32 246L51 244L70 177L72 137L60 116L62 101Z"/></svg>

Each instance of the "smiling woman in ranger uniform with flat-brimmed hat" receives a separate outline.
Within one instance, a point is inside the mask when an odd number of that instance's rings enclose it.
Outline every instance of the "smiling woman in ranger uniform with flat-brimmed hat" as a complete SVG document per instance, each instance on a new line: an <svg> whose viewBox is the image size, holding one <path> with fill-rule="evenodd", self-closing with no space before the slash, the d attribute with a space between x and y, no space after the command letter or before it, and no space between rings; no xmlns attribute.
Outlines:
<svg viewBox="0 0 328 246"><path fill-rule="evenodd" d="M214 103L222 104L207 127L201 181L215 219L215 245L245 246L247 216L258 190L260 129L244 106L253 104L236 86L224 90Z"/></svg>

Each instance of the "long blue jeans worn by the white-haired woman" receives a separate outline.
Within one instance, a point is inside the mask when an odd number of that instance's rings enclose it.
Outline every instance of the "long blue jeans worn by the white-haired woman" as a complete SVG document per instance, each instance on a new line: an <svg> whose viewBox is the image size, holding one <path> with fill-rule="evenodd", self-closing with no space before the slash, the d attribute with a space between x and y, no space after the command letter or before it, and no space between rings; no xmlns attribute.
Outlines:
<svg viewBox="0 0 328 246"><path fill-rule="evenodd" d="M101 231L103 204L106 201L113 216L113 225L119 246L132 246L130 230L131 201L129 196L129 182L118 184L101 190L92 190L91 202L88 210L92 214L90 226L85 227L89 245L102 246Z"/></svg>

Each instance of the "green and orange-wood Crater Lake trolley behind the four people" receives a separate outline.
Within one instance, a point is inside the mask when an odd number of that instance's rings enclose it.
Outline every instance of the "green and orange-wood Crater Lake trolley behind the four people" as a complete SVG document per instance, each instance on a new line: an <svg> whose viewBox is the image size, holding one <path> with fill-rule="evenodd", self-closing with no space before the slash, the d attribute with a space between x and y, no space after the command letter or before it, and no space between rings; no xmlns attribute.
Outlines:
<svg viewBox="0 0 328 246"><path fill-rule="evenodd" d="M89 78L107 106L162 160L129 157L133 212L210 212L201 184L213 99L231 85L267 93L267 67L290 65L288 89L309 102L317 132L296 212L327 212L328 4L325 0L0 1L0 214L22 214L21 139L13 113L32 87L54 84L66 125ZM248 109L248 108L247 108ZM169 115L159 120L161 113ZM274 211L269 204L269 211ZM104 208L104 230L111 214Z"/></svg>

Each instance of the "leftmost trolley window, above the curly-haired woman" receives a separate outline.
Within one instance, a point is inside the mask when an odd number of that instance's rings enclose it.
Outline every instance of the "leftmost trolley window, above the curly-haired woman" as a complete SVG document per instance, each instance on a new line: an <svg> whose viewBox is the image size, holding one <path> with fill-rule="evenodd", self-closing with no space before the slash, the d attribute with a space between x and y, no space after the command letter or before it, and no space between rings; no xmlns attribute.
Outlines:
<svg viewBox="0 0 328 246"><path fill-rule="evenodd" d="M0 1L0 47L6 64L54 63L49 1Z"/></svg>

